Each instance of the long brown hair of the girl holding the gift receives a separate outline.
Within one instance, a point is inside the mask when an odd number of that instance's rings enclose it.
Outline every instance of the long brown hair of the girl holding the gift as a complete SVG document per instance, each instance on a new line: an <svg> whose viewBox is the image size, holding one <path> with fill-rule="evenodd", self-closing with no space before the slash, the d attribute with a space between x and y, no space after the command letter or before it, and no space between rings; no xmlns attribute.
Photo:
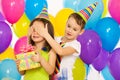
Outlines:
<svg viewBox="0 0 120 80"><path fill-rule="evenodd" d="M51 24L50 21L44 19L44 18L35 18L31 23L30 23L30 27L33 25L33 23L35 21L39 21L39 22L43 22L44 26L46 24L48 24L48 33L51 35L52 38L54 38L54 29L53 29L53 25ZM35 43L34 41L31 39L31 36L28 36L28 43L35 46ZM50 50L51 49L51 46L48 44L48 42L46 41L46 46L48 47L48 49Z"/></svg>

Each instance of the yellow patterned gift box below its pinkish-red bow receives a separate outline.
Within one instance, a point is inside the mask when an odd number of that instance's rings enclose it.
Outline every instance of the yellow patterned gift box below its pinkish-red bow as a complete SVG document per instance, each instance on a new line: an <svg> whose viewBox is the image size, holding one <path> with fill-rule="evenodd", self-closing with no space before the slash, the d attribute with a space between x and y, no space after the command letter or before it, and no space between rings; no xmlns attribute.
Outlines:
<svg viewBox="0 0 120 80"><path fill-rule="evenodd" d="M26 53L20 53L16 55L16 58L20 60L20 65L19 65L19 71L23 70L29 70L33 68L38 68L40 67L40 63L33 62L31 60L31 57L35 55L35 52L26 52Z"/></svg>

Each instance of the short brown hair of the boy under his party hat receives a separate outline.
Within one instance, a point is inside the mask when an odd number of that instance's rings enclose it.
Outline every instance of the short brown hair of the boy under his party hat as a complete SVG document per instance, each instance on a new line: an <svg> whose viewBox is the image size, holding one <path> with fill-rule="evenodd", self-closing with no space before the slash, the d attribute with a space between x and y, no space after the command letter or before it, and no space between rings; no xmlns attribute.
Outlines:
<svg viewBox="0 0 120 80"><path fill-rule="evenodd" d="M75 21L77 22L77 24L81 26L81 29L84 29L84 27L85 27L85 21L84 21L84 19L78 13L72 13L69 16L69 18L70 17L73 17L75 19Z"/></svg>

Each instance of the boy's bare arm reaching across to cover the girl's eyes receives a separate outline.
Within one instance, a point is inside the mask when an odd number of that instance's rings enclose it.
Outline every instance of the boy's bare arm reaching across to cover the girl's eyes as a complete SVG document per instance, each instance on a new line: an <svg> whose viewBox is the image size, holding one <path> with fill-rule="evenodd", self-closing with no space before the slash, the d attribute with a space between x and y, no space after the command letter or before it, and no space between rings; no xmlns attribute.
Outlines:
<svg viewBox="0 0 120 80"><path fill-rule="evenodd" d="M73 47L65 47L65 48L61 47L61 45L57 43L48 33L47 25L45 28L40 27L38 30L40 32L39 34L47 40L47 42L50 44L50 46L54 49L54 51L57 54L64 56L64 55L70 55L76 52L76 50Z"/></svg>

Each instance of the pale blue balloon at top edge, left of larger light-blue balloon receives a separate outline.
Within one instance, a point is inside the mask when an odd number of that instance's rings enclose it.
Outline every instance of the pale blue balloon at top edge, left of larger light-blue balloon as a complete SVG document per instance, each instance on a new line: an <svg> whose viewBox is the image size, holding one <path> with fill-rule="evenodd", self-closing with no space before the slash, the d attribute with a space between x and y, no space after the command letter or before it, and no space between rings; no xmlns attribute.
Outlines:
<svg viewBox="0 0 120 80"><path fill-rule="evenodd" d="M79 0L63 0L63 4L65 8L71 8L75 11L78 11Z"/></svg>

